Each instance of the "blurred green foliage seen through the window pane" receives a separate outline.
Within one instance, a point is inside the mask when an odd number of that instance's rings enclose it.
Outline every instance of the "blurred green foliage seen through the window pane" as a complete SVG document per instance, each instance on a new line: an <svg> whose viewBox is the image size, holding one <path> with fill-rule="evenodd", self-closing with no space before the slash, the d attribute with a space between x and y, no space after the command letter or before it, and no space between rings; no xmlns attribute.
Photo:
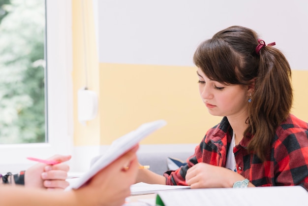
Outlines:
<svg viewBox="0 0 308 206"><path fill-rule="evenodd" d="M0 0L0 143L45 142L45 0Z"/></svg>

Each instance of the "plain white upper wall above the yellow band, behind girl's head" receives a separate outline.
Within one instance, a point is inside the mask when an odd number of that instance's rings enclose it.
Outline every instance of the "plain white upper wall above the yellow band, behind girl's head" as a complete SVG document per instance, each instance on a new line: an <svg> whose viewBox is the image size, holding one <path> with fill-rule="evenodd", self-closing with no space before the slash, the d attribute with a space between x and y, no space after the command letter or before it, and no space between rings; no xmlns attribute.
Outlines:
<svg viewBox="0 0 308 206"><path fill-rule="evenodd" d="M292 69L308 70L307 0L98 0L103 63L192 66L197 45L241 25L275 41Z"/></svg>

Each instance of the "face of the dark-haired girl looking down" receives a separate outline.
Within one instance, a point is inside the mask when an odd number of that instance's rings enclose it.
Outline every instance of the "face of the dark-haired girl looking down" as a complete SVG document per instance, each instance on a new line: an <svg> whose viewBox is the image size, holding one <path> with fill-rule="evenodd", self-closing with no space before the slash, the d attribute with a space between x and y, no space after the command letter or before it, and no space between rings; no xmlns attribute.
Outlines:
<svg viewBox="0 0 308 206"><path fill-rule="evenodd" d="M250 92L247 86L224 85L209 79L198 68L199 92L203 103L214 116L247 116Z"/></svg>

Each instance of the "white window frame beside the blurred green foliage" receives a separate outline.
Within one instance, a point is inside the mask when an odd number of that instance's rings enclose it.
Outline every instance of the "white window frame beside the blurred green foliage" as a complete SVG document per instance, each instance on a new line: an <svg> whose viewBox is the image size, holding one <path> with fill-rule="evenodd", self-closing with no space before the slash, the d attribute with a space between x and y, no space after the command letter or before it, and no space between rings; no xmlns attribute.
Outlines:
<svg viewBox="0 0 308 206"><path fill-rule="evenodd" d="M0 173L26 170L34 163L26 157L48 158L71 154L72 17L71 0L46 0L47 143L0 144Z"/></svg>

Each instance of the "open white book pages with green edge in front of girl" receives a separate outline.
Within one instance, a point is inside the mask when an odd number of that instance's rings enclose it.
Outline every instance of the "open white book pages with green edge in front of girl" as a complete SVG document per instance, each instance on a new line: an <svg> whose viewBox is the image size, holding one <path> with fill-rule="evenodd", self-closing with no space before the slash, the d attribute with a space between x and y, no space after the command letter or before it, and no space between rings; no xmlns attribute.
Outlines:
<svg viewBox="0 0 308 206"><path fill-rule="evenodd" d="M308 205L308 192L302 186L175 190L161 191L157 196L164 206Z"/></svg>

